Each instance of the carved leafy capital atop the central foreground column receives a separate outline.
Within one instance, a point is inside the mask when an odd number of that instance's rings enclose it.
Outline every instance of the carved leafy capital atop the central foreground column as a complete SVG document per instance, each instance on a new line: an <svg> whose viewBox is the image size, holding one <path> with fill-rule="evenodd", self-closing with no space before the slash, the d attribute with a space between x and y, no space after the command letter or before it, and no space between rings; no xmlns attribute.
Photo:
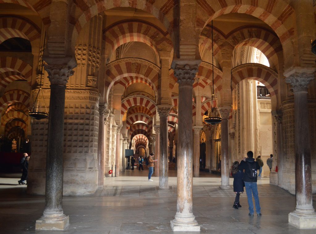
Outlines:
<svg viewBox="0 0 316 234"><path fill-rule="evenodd" d="M174 59L171 64L174 76L178 78L179 85L192 85L201 60Z"/></svg>

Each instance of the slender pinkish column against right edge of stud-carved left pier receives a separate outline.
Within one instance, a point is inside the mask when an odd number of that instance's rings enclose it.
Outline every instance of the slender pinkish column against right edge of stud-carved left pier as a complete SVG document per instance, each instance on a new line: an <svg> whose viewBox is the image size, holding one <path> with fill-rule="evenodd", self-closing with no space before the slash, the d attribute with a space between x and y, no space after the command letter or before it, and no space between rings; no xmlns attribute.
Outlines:
<svg viewBox="0 0 316 234"><path fill-rule="evenodd" d="M107 116L105 117L105 112ZM104 129L105 119L109 115L109 109L107 109L107 103L99 104L99 133L98 133L98 188L104 188Z"/></svg>

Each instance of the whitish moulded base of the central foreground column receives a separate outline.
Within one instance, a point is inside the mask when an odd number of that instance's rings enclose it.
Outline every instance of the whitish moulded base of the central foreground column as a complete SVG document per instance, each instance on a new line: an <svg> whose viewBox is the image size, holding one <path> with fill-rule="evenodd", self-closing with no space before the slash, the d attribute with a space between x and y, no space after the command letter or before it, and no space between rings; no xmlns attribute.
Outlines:
<svg viewBox="0 0 316 234"><path fill-rule="evenodd" d="M190 213L188 215L175 215L175 218L170 221L173 231L200 231L200 225L195 220L195 216Z"/></svg>

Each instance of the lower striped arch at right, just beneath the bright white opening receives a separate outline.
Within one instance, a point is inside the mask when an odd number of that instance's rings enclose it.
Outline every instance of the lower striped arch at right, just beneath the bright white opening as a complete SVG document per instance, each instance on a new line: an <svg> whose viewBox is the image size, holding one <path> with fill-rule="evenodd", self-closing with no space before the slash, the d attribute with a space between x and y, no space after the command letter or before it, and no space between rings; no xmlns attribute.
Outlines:
<svg viewBox="0 0 316 234"><path fill-rule="evenodd" d="M231 89L233 90L240 81L247 78L258 79L269 90L271 98L278 93L278 74L270 67L257 63L247 63L232 70Z"/></svg>

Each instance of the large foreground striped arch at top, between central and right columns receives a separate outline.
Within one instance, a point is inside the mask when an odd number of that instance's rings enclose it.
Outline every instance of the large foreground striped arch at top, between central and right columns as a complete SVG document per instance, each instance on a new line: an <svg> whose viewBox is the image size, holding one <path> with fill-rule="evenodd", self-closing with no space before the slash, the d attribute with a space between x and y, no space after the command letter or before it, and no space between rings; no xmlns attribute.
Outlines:
<svg viewBox="0 0 316 234"><path fill-rule="evenodd" d="M229 13L243 13L262 20L282 43L294 35L295 12L285 0L197 0L196 24L204 27L216 17Z"/></svg>

